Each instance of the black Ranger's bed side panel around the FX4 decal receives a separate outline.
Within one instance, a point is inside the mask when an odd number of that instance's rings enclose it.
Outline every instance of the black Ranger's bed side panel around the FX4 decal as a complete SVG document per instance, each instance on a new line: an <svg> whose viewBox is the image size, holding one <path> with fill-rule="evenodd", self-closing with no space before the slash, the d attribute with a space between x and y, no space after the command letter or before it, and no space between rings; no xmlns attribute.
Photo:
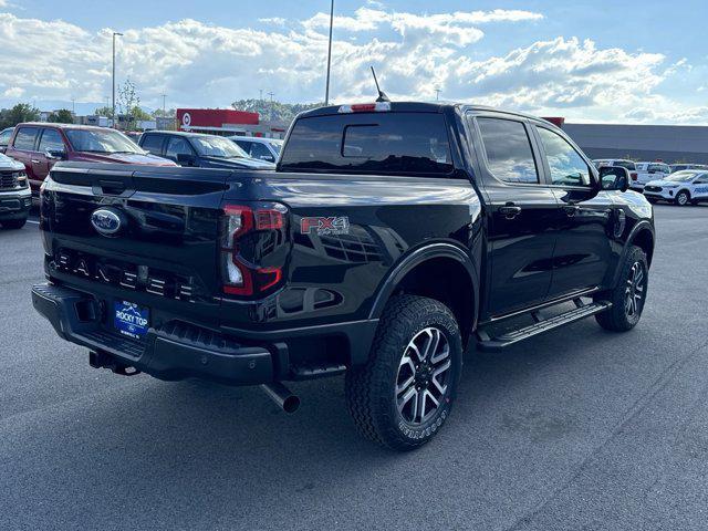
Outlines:
<svg viewBox="0 0 708 531"><path fill-rule="evenodd" d="M229 185L226 202L287 205L294 244L285 288L250 308L225 301L227 326L250 322L268 330L367 319L402 257L433 241L469 249L480 212L467 179L240 173ZM345 218L340 223L348 228L325 233L308 218Z"/></svg>

